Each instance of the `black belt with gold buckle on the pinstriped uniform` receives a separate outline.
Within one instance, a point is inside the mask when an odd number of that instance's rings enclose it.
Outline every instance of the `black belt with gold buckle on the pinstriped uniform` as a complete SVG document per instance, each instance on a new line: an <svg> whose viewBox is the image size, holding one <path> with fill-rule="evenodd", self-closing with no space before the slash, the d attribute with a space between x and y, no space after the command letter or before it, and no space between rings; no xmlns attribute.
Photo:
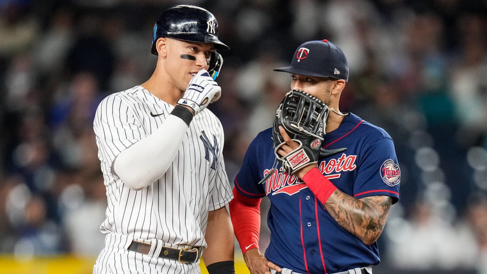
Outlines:
<svg viewBox="0 0 487 274"><path fill-rule="evenodd" d="M149 254L150 251L150 244L132 241L127 250L135 251L142 254ZM194 263L198 261L201 254L200 247L193 247L192 249L183 248L183 249L175 249L169 247L163 247L161 249L161 253L159 257L167 258L179 261L181 263Z"/></svg>

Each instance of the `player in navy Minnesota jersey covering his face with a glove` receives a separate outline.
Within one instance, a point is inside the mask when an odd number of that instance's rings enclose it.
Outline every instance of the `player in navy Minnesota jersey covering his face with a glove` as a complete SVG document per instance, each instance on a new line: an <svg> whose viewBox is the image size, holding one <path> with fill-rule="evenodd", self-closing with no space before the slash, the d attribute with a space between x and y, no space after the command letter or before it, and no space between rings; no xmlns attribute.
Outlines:
<svg viewBox="0 0 487 274"><path fill-rule="evenodd" d="M317 136L323 141L312 143L325 153L314 163L306 154L293 154L304 144L291 139L282 126L276 129L281 145L273 143L273 128L251 142L229 204L247 267L252 274L371 274L371 266L380 261L376 240L391 205L399 199L400 170L393 140L383 129L339 111L349 72L337 45L327 40L305 42L291 66L275 71L291 76L295 91L286 97L306 94L328 106L324 132ZM288 115L298 116L296 129L308 117L306 111ZM289 174L281 162L273 168L277 157L289 160L286 168L308 164ZM271 203L267 218L271 234L261 254L259 205L264 196Z"/></svg>

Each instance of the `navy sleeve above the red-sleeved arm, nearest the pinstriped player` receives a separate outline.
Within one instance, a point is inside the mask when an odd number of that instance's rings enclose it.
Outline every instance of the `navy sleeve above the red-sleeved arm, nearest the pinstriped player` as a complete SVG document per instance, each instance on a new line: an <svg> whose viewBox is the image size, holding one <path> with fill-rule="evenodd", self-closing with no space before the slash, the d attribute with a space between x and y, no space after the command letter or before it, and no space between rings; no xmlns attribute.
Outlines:
<svg viewBox="0 0 487 274"><path fill-rule="evenodd" d="M247 198L262 198L265 196L263 184L258 184L261 177L259 175L259 150L257 145L261 138L261 135L258 135L248 146L242 167L234 180L237 191Z"/></svg>

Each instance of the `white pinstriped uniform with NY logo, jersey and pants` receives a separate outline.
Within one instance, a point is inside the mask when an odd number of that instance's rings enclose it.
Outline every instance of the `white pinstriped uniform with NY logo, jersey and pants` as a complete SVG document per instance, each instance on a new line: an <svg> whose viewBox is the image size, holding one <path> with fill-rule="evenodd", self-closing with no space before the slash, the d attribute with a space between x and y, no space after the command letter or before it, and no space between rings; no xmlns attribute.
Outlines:
<svg viewBox="0 0 487 274"><path fill-rule="evenodd" d="M174 106L142 86L105 98L94 119L108 208L100 230L107 234L94 273L200 273L198 262L127 251L132 239L171 248L206 247L208 211L232 198L223 159L224 133L219 119L205 109L191 121L176 157L157 182L134 191L112 173L115 157L147 137L169 116ZM152 115L161 114L152 117ZM205 144L206 143L206 144ZM216 159L215 156L216 155ZM155 246L155 245L153 245ZM123 270L123 271L122 271Z"/></svg>

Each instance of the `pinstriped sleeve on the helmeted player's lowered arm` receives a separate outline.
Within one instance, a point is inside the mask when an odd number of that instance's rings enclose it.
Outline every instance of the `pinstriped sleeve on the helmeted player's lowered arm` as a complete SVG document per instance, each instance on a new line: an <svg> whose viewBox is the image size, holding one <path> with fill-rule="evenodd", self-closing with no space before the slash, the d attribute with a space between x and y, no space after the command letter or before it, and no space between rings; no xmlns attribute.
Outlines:
<svg viewBox="0 0 487 274"><path fill-rule="evenodd" d="M209 211L220 209L233 199L232 189L230 187L230 183L228 182L228 176L226 176L225 160L223 157L223 144L225 142L224 132L222 125L220 123L218 124L221 132L219 142L222 144L222 147L218 153L214 185L212 191L210 192L210 203L208 206Z"/></svg>

